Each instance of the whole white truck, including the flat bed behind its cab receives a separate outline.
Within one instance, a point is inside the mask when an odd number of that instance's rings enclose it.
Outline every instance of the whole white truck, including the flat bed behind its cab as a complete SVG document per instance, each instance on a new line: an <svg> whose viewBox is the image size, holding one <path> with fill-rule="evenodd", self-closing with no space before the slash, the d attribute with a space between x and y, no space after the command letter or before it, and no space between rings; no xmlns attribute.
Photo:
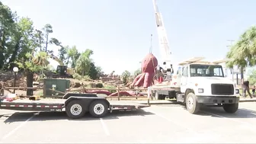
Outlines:
<svg viewBox="0 0 256 144"><path fill-rule="evenodd" d="M150 89L157 100L176 98L186 104L191 114L197 114L202 104L218 104L227 113L238 110L239 90L225 77L219 62L203 62L196 57L179 64L171 80L155 84Z"/></svg>

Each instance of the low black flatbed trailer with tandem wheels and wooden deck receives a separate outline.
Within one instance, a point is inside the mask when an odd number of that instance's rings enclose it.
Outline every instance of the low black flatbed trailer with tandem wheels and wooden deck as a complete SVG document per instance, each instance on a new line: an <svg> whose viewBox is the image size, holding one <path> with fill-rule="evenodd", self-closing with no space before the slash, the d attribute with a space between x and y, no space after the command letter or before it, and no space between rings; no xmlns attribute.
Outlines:
<svg viewBox="0 0 256 144"><path fill-rule="evenodd" d="M148 104L139 104L130 101L107 101L107 98L98 97L97 94L67 93L62 99L17 99L14 101L0 101L0 109L28 110L28 111L66 111L68 117L78 119L89 112L93 117L104 117L113 110L130 111L149 107Z"/></svg>

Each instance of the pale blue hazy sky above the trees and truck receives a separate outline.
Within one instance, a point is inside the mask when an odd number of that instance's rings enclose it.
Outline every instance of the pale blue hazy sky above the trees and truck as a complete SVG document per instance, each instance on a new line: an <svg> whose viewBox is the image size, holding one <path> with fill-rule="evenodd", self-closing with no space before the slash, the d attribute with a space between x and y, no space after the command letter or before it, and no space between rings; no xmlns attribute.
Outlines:
<svg viewBox="0 0 256 144"><path fill-rule="evenodd" d="M63 45L91 49L104 72L133 72L149 53L160 60L152 0L2 0L40 29L49 23ZM226 56L227 40L238 40L256 24L254 0L158 0L174 63L194 56ZM55 46L50 49L57 51ZM54 65L57 65L56 63Z"/></svg>

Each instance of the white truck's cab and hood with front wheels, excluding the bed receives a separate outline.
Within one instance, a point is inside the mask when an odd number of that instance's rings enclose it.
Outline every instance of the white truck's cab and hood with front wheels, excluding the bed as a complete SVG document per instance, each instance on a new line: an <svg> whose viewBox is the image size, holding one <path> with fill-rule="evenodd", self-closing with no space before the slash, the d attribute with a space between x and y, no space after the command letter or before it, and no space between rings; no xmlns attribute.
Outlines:
<svg viewBox="0 0 256 144"><path fill-rule="evenodd" d="M226 78L222 66L211 62L194 62L182 66L178 74L181 91L177 101L186 104L187 110L195 114L202 104L218 104L227 113L238 110L239 90Z"/></svg>

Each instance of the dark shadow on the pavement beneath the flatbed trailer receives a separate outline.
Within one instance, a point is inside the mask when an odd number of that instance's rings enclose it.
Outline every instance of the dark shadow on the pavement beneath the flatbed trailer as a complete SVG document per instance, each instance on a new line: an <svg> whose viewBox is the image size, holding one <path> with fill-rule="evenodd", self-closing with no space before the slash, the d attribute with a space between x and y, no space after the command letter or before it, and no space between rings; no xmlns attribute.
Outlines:
<svg viewBox="0 0 256 144"><path fill-rule="evenodd" d="M34 114L36 115L35 117ZM102 118L103 120L113 120L119 119L119 117L133 117L133 116L146 116L152 115L150 112L146 112L144 110L136 110L136 111L113 111L111 114L108 114L106 117ZM81 119L70 119L66 112L24 112L24 113L14 113L8 119L4 121L4 123L14 123L26 121L30 117L33 117L30 121L47 121L47 120L99 120L99 118L91 117L90 114L85 114L85 117Z"/></svg>

